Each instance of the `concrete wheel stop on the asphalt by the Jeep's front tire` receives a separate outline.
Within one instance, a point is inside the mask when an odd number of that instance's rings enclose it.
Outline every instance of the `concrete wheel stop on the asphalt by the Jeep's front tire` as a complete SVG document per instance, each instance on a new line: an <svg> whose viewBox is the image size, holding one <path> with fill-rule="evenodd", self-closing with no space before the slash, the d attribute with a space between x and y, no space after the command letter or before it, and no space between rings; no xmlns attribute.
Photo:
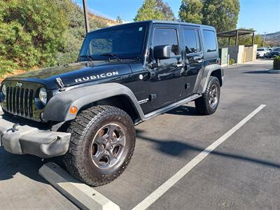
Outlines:
<svg viewBox="0 0 280 210"><path fill-rule="evenodd" d="M120 209L117 204L111 202L90 186L74 179L68 172L53 162L43 165L39 169L39 174L81 209Z"/></svg>

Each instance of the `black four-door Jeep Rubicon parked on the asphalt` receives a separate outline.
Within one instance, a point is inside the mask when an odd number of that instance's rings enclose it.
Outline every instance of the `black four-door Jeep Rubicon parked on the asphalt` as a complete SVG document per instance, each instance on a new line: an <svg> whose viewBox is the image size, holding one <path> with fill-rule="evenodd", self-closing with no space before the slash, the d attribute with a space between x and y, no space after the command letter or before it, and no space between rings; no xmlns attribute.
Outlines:
<svg viewBox="0 0 280 210"><path fill-rule="evenodd" d="M116 179L145 120L195 101L216 111L223 85L214 27L145 21L92 31L78 62L1 83L1 146L41 158L64 155L90 186Z"/></svg>

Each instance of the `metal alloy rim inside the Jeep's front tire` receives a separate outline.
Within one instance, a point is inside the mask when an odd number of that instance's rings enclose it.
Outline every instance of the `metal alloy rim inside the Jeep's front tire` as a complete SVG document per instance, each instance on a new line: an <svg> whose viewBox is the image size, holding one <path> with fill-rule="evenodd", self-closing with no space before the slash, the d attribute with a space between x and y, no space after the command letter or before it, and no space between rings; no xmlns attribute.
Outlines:
<svg viewBox="0 0 280 210"><path fill-rule="evenodd" d="M100 128L91 146L92 162L99 169L109 169L120 162L125 149L125 133L116 123Z"/></svg>

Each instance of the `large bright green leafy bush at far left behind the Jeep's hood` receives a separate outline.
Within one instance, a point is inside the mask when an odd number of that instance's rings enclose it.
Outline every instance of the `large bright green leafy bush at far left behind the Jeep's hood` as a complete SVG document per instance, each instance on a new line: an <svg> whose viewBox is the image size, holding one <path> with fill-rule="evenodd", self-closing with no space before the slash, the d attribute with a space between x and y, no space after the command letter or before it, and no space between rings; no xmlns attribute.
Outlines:
<svg viewBox="0 0 280 210"><path fill-rule="evenodd" d="M55 1L0 1L0 73L55 64L66 45L67 21Z"/></svg>

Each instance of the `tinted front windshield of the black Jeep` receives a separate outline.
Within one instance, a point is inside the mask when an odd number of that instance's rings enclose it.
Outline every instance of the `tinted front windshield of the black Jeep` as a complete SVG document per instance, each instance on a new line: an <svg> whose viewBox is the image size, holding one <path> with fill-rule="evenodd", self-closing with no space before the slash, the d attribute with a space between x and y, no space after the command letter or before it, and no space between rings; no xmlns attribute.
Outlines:
<svg viewBox="0 0 280 210"><path fill-rule="evenodd" d="M87 34L80 50L79 60L141 56L146 36L146 25L132 25L102 29Z"/></svg>

